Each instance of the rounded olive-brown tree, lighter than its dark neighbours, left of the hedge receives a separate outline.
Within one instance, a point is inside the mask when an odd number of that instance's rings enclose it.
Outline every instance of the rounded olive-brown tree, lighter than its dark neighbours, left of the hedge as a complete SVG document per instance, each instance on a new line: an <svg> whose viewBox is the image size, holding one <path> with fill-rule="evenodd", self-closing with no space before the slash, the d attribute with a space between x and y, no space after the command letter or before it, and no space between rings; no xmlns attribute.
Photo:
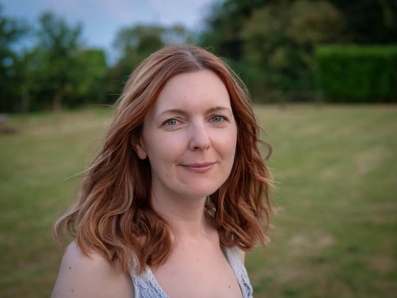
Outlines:
<svg viewBox="0 0 397 298"><path fill-rule="evenodd" d="M254 89L314 89L314 49L340 40L343 29L343 15L324 0L280 1L255 10L240 35L242 60L263 74L254 78Z"/></svg>

